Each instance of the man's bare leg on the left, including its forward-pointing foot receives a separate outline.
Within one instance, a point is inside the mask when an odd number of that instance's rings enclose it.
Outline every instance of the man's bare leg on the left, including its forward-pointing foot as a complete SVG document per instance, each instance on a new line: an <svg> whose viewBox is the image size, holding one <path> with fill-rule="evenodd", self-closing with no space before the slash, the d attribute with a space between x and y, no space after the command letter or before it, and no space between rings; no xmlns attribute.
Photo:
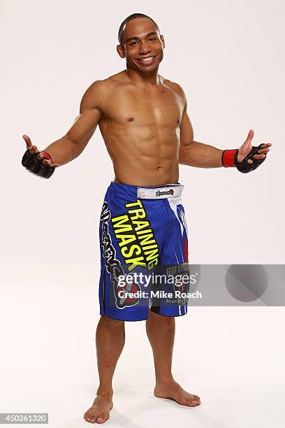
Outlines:
<svg viewBox="0 0 285 428"><path fill-rule="evenodd" d="M100 385L92 406L85 412L87 422L102 424L110 418L112 377L124 348L124 321L102 315L96 329L96 352Z"/></svg>

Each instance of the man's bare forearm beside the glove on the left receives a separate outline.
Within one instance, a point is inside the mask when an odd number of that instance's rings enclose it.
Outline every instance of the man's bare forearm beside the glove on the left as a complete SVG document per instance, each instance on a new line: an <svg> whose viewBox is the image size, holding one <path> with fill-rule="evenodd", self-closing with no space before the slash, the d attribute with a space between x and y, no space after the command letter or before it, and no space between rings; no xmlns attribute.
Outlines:
<svg viewBox="0 0 285 428"><path fill-rule="evenodd" d="M71 162L75 157L78 157L82 151L67 135L47 145L43 150L52 157L52 162L59 165Z"/></svg>

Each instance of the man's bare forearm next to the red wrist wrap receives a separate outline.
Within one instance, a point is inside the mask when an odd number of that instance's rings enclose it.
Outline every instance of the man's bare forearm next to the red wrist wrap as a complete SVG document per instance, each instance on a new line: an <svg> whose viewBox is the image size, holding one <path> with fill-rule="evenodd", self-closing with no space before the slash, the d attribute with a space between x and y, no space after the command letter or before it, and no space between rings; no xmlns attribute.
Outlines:
<svg viewBox="0 0 285 428"><path fill-rule="evenodd" d="M180 146L179 163L197 168L219 168L223 166L221 163L223 151L212 145L193 141L191 144Z"/></svg>

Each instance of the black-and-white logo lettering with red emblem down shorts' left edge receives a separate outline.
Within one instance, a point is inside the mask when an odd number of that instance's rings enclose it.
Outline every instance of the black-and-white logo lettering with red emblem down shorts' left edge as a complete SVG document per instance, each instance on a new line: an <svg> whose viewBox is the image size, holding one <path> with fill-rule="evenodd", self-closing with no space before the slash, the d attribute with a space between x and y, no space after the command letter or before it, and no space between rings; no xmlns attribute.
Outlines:
<svg viewBox="0 0 285 428"><path fill-rule="evenodd" d="M138 298L124 298L119 297L118 293L119 291L124 292L138 292L140 291L140 285L133 283L133 284L126 284L124 287L119 287L117 285L119 276L126 274L124 273L123 266L121 262L116 259L116 250L114 246L112 245L111 236L109 234L109 226L108 222L111 218L111 214L108 208L108 204L106 201L104 201L103 208L101 211L101 217L100 220L102 222L102 249L103 249L103 256L105 258L105 266L110 273L110 278L113 285L113 291L115 296L115 304L117 308L124 309L126 306L135 306L138 304L139 299ZM124 293L125 294L125 293Z"/></svg>

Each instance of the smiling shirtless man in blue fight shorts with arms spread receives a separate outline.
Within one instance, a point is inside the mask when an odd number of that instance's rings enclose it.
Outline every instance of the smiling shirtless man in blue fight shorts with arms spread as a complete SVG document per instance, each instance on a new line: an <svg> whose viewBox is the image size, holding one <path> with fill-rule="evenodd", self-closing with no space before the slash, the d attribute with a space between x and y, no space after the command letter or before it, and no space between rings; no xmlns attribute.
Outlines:
<svg viewBox="0 0 285 428"><path fill-rule="evenodd" d="M80 155L99 125L114 166L115 178L107 190L100 222L101 319L96 329L100 384L94 403L84 415L88 422L103 423L110 418L112 376L124 347L125 320L146 320L156 375L154 395L184 406L200 405L200 398L183 390L171 371L175 316L185 315L187 305L149 308L132 300L128 304L123 299L122 303L112 288L112 266L130 266L132 257L147 259L139 236L144 224L154 238L154 250L149 250L152 257L146 263L155 265L157 254L159 262L188 261L179 164L200 168L235 166L249 172L264 161L270 150L270 143L253 148L252 130L239 150L219 150L193 141L182 87L158 73L164 47L164 38L152 18L130 15L119 29L117 45L119 56L126 59L126 69L92 83L82 97L80 115L71 129L44 151L23 136L27 152L22 164L36 175L49 178L58 166ZM121 235L116 229L118 224ZM137 234L130 239L136 241L128 245L126 235L123 242L122 230L135 234L134 229Z"/></svg>

